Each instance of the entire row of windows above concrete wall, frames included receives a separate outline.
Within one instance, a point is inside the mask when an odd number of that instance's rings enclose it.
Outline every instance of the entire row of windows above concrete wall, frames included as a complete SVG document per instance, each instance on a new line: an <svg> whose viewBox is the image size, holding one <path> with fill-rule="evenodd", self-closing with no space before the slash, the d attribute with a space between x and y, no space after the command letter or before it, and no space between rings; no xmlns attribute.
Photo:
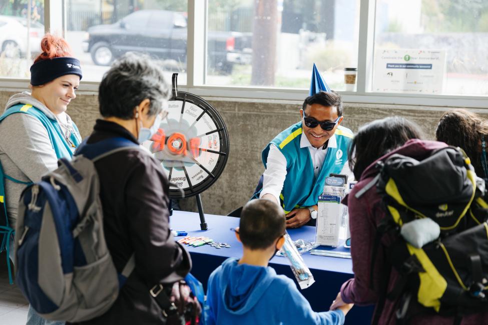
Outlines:
<svg viewBox="0 0 488 325"><path fill-rule="evenodd" d="M3 88L24 87L47 25L65 28L91 91L115 58L138 51L204 97L302 100L316 63L346 101L488 107L486 0L29 2L0 0ZM355 73L357 87L346 84Z"/></svg>

